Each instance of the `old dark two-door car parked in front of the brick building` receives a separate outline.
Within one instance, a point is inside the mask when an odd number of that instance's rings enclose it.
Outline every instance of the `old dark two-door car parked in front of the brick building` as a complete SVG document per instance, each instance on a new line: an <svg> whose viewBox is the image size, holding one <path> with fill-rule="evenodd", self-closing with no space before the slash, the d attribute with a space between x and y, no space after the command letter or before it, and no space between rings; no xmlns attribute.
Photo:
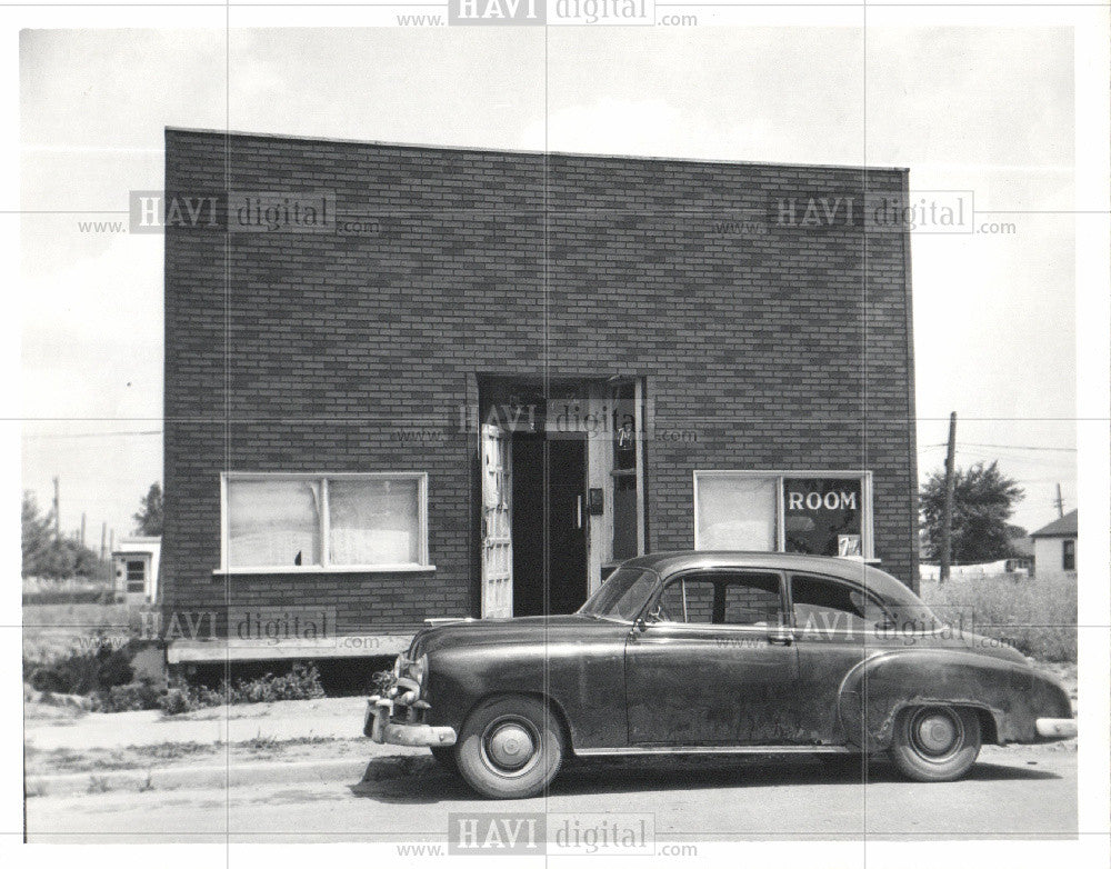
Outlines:
<svg viewBox="0 0 1111 869"><path fill-rule="evenodd" d="M422 630L364 732L429 746L511 798L570 755L885 751L912 779L949 781L981 742L1077 725L1022 655L860 561L665 552L623 563L572 616Z"/></svg>

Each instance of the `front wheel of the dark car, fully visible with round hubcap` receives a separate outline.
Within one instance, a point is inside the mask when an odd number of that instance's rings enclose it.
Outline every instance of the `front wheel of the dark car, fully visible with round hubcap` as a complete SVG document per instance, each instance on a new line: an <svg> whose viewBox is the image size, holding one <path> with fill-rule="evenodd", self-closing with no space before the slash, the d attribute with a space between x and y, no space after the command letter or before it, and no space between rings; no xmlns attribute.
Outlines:
<svg viewBox="0 0 1111 869"><path fill-rule="evenodd" d="M532 697L494 697L463 725L459 773L483 797L520 799L542 793L563 761L563 732L551 710Z"/></svg>

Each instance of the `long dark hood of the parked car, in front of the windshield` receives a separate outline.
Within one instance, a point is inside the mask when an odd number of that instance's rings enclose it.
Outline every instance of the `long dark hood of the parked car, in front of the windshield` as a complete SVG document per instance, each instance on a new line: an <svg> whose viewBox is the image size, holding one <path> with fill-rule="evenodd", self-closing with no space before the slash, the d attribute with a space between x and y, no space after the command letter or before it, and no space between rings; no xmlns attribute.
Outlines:
<svg viewBox="0 0 1111 869"><path fill-rule="evenodd" d="M622 622L578 615L452 621L419 631L409 648L409 657L418 658L456 645L558 642L612 632L614 629L627 630L628 627Z"/></svg>

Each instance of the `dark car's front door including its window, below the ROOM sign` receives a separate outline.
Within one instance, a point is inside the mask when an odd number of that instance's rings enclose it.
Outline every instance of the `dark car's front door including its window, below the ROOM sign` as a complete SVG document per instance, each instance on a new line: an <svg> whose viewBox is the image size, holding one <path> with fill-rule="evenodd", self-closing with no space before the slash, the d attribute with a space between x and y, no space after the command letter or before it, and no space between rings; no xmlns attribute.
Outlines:
<svg viewBox="0 0 1111 869"><path fill-rule="evenodd" d="M625 643L631 746L783 745L798 737L799 665L785 576L688 571L667 580Z"/></svg>

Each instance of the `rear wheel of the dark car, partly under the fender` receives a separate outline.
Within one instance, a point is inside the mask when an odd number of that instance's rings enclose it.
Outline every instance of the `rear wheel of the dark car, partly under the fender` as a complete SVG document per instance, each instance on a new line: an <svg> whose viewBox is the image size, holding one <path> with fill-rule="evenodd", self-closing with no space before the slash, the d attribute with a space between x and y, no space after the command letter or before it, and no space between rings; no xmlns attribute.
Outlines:
<svg viewBox="0 0 1111 869"><path fill-rule="evenodd" d="M915 781L953 781L980 755L980 719L965 707L919 706L895 720L891 759Z"/></svg>

